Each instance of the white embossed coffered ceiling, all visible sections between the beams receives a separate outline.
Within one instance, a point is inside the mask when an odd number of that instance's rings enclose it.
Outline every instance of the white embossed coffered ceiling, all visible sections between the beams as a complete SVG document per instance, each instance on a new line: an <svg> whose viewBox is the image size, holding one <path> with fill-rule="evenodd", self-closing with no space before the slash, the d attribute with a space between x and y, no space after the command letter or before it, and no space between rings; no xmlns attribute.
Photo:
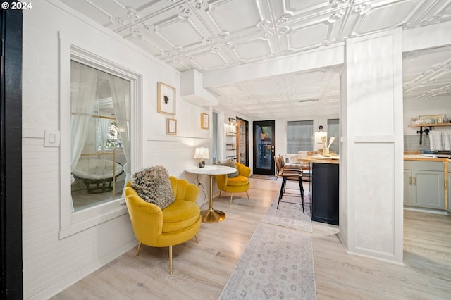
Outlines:
<svg viewBox="0 0 451 300"><path fill-rule="evenodd" d="M395 27L451 20L451 0L61 1L173 68L201 73L299 54ZM438 78L450 79L450 52L438 53L406 54L407 96L450 93L449 85L438 84ZM237 82L211 87L211 92L221 105L252 118L327 115L338 111L340 70L337 66ZM428 89L431 82L435 85ZM311 99L318 101L305 101Z"/></svg>

